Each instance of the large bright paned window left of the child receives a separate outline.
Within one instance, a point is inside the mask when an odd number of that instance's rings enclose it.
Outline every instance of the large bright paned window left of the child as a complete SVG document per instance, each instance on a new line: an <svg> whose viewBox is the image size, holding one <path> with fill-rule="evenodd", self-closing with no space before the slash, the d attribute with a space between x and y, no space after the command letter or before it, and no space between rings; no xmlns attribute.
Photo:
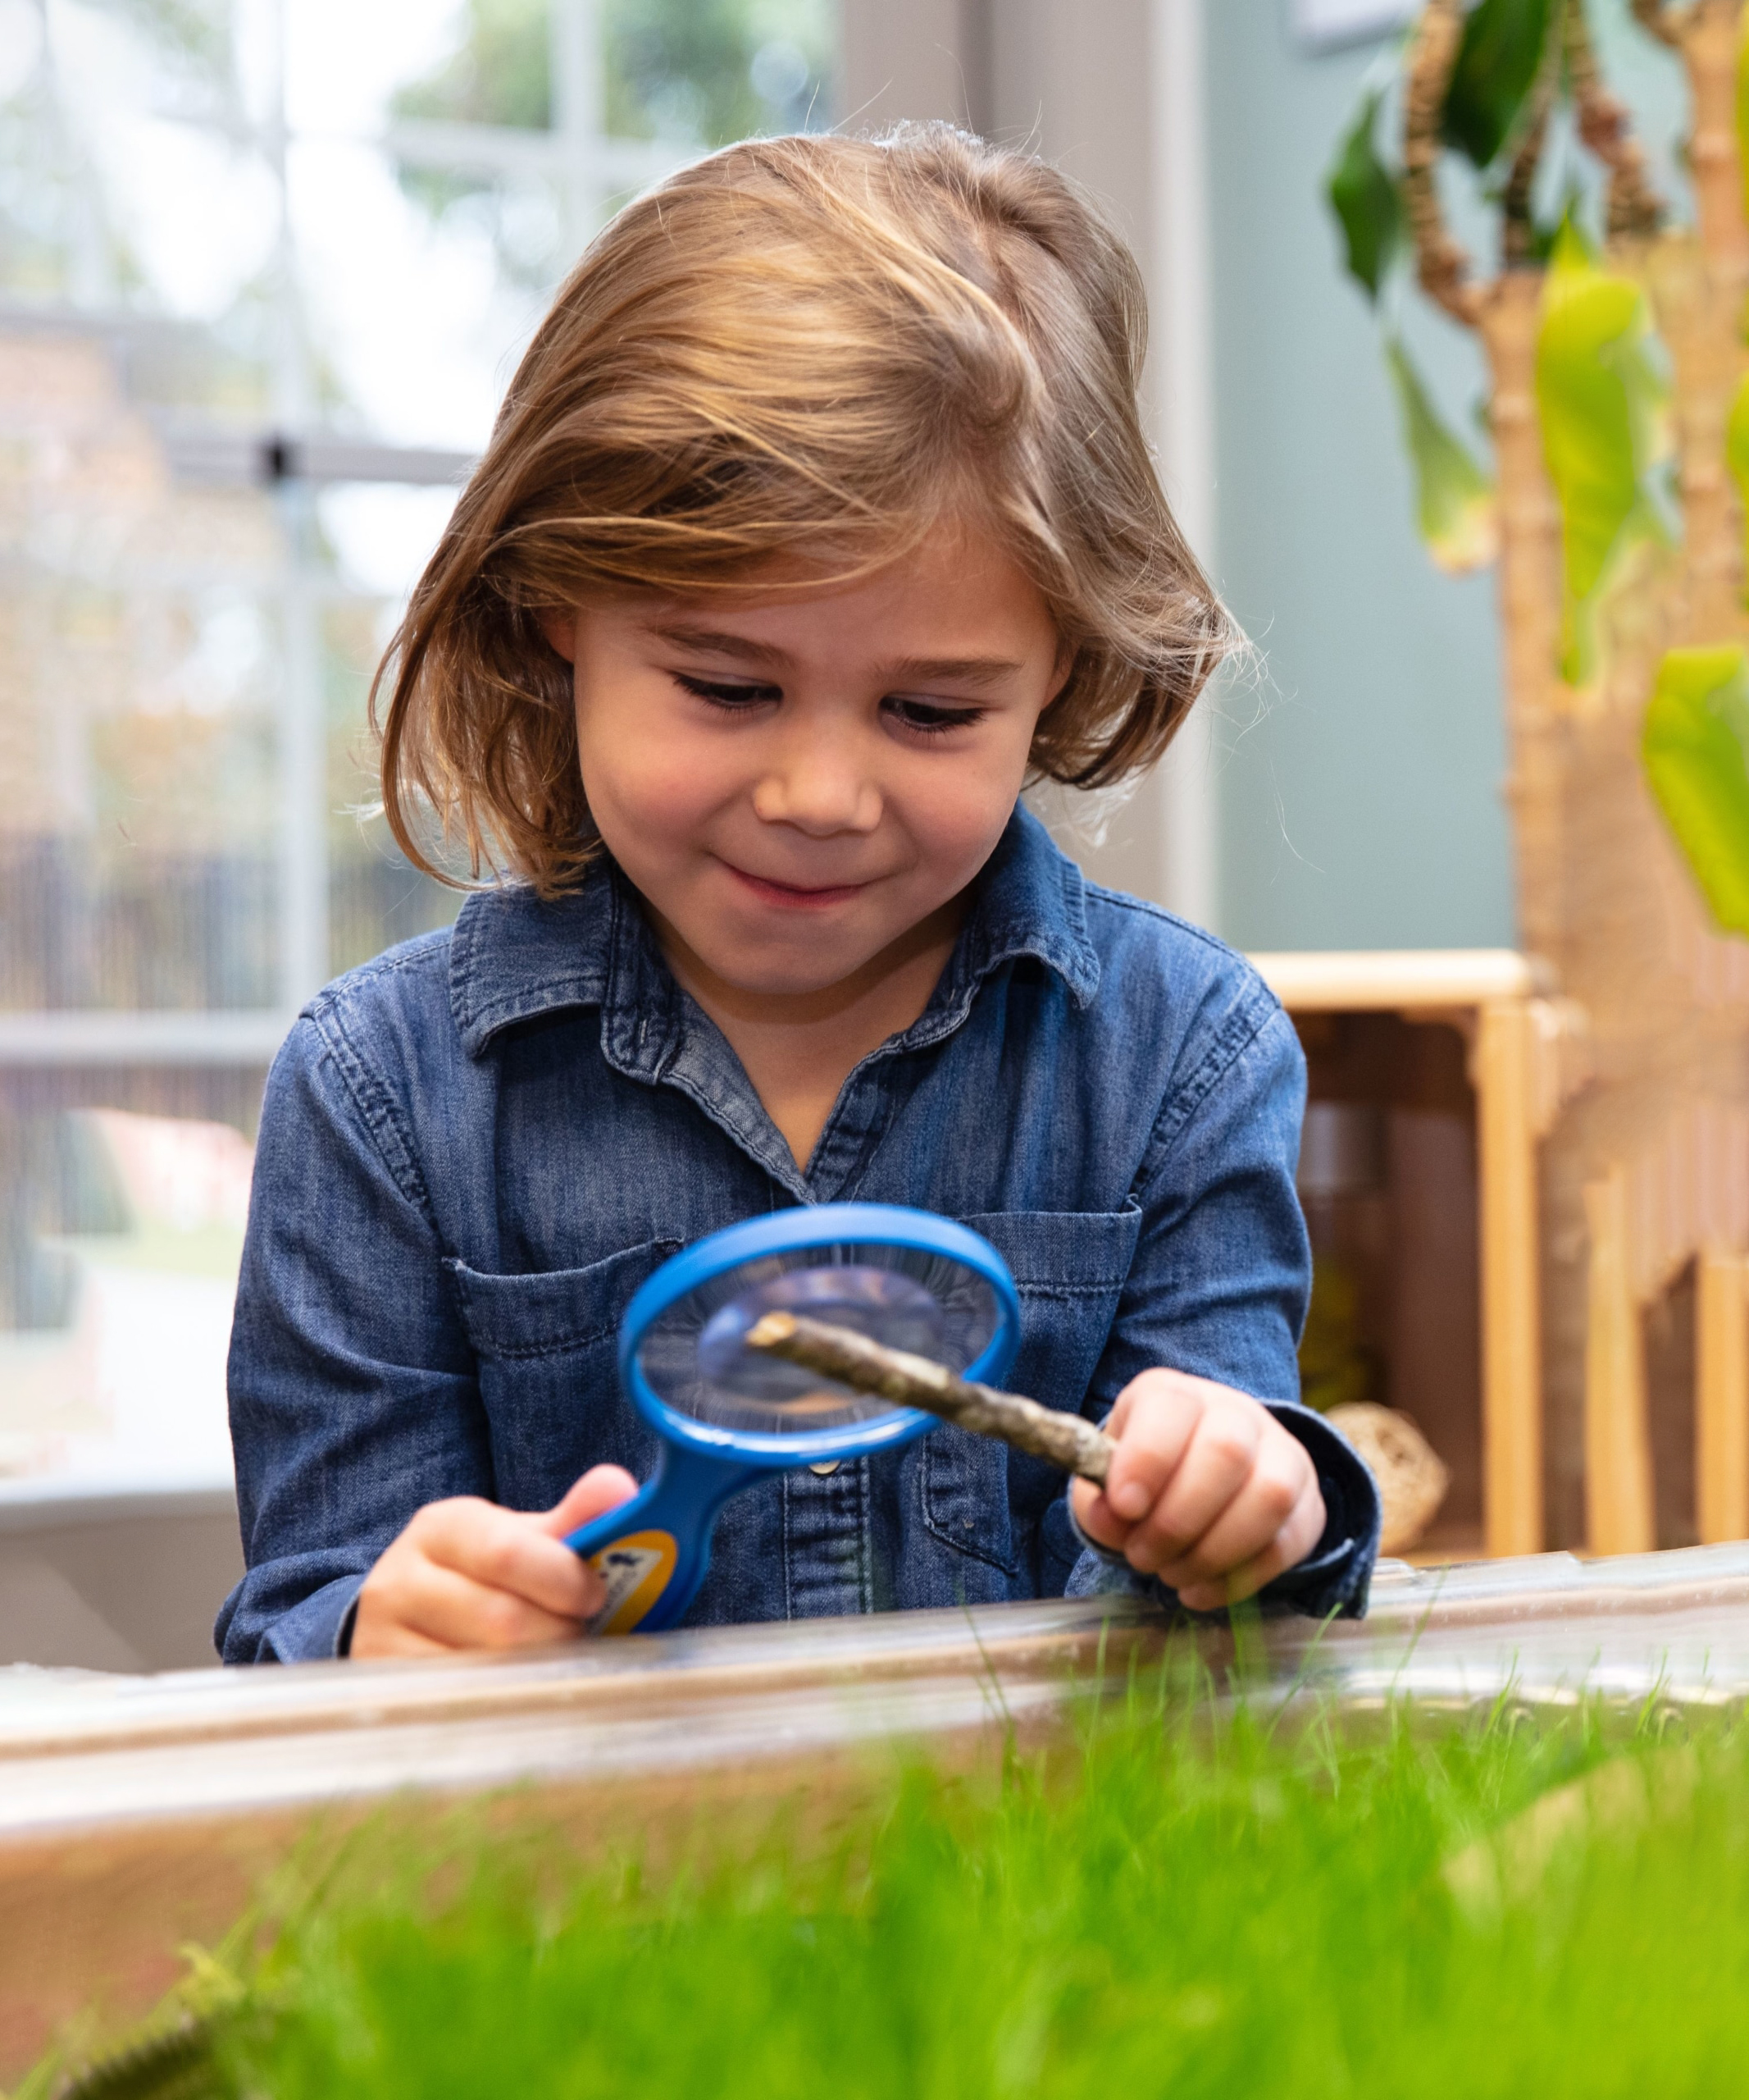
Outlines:
<svg viewBox="0 0 1749 2100"><path fill-rule="evenodd" d="M829 0L0 0L0 1497L229 1480L269 1058L443 924L365 693L615 202Z"/></svg>

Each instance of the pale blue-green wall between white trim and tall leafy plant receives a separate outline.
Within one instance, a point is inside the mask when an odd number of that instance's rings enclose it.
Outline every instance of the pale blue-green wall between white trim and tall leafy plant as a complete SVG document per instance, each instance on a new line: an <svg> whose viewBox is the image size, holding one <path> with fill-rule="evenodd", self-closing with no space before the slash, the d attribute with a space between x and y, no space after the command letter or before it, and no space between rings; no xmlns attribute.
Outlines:
<svg viewBox="0 0 1749 2100"><path fill-rule="evenodd" d="M1220 930L1241 947L1512 941L1493 575L1415 538L1396 405L1323 170L1375 48L1306 57L1274 0L1207 10L1222 588L1262 674L1216 697ZM1445 399L1480 363L1432 319Z"/></svg>

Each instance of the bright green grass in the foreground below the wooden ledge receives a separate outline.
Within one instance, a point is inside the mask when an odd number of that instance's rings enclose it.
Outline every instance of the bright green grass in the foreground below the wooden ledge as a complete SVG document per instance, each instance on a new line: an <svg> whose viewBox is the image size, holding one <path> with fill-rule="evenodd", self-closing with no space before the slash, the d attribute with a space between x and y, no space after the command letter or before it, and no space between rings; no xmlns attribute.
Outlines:
<svg viewBox="0 0 1749 2100"><path fill-rule="evenodd" d="M1287 1741L1132 1701L1050 1764L892 1772L825 1844L777 1821L661 1873L451 1846L191 1991L206 2071L183 2045L84 2090L1718 2100L1749 2090L1749 1739Z"/></svg>

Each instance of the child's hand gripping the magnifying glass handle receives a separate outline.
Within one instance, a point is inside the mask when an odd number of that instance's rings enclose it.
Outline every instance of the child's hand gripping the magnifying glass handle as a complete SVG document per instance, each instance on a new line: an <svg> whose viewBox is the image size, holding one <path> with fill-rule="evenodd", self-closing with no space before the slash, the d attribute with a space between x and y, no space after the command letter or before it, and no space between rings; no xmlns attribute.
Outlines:
<svg viewBox="0 0 1749 2100"><path fill-rule="evenodd" d="M624 1466L590 1466L556 1510L500 1510L479 1495L428 1502L359 1590L351 1655L447 1655L575 1640L600 1611L600 1575L561 1544L638 1491Z"/></svg>

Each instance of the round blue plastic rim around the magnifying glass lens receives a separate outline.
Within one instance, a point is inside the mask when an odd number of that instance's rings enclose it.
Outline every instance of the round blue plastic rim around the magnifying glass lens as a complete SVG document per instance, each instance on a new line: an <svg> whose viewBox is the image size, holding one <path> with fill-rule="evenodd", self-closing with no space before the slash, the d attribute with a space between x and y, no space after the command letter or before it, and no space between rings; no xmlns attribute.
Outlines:
<svg viewBox="0 0 1749 2100"><path fill-rule="evenodd" d="M861 1457L867 1451L884 1451L922 1436L934 1426L934 1415L884 1405L878 1413L871 1411L857 1422L813 1432L731 1428L670 1407L645 1376L640 1350L651 1329L682 1300L718 1285L720 1279L756 1273L762 1264L777 1268L785 1256L817 1252L836 1258L855 1250L901 1250L926 1256L947 1270L957 1268L987 1285L993 1312L991 1336L970 1361L951 1363L949 1369L985 1384L999 1384L1008 1376L1020 1340L1020 1298L1008 1264L987 1239L951 1218L939 1218L928 1210L909 1210L903 1203L810 1203L712 1233L663 1262L632 1298L619 1323L619 1380L632 1394L638 1413L668 1443L773 1470ZM823 1270L831 1266L836 1262L819 1264Z"/></svg>

